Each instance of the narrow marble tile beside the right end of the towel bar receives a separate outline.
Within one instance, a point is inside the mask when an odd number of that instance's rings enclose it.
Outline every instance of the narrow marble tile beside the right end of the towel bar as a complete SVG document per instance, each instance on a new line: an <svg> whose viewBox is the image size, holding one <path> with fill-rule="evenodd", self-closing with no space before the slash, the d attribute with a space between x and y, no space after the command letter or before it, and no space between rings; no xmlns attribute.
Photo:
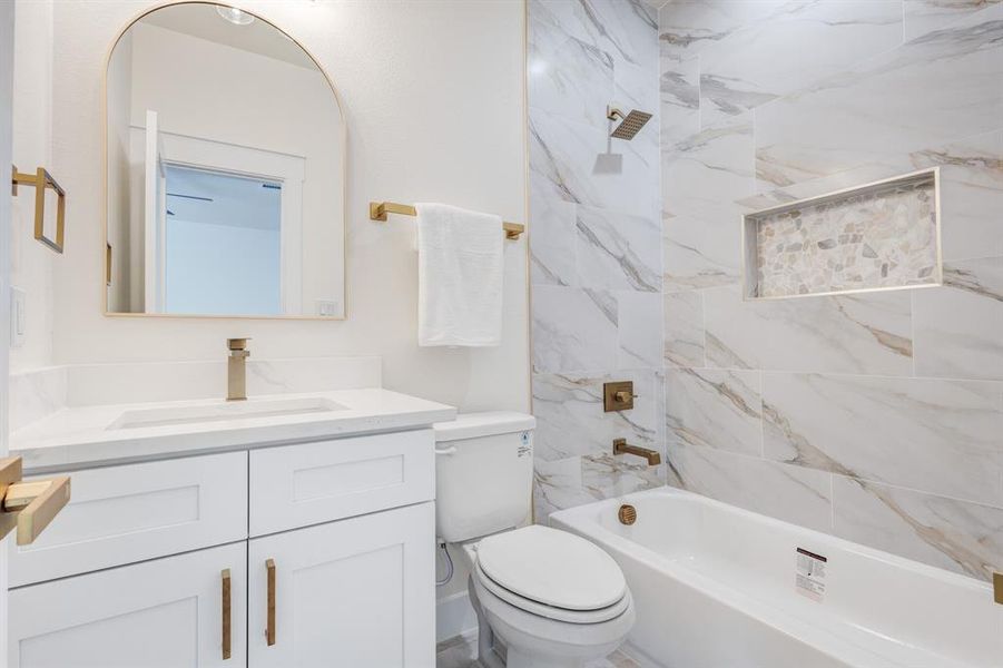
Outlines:
<svg viewBox="0 0 1003 668"><path fill-rule="evenodd" d="M576 207L530 196L530 277L533 285L578 287Z"/></svg>

